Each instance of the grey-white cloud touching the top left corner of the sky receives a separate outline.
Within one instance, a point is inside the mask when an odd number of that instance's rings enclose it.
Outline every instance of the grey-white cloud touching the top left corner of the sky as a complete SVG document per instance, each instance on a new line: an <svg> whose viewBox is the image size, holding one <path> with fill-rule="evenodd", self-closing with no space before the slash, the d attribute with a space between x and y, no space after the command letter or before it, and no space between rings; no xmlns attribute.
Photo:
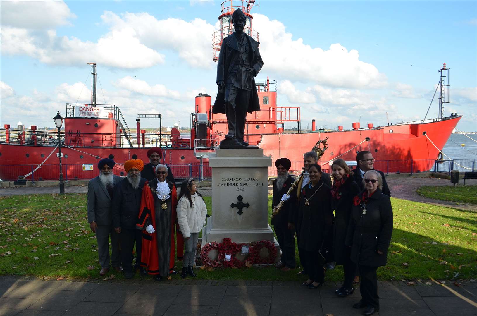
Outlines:
<svg viewBox="0 0 477 316"><path fill-rule="evenodd" d="M2 1L2 25L32 30L49 30L59 25L69 25L76 18L63 1Z"/></svg>

